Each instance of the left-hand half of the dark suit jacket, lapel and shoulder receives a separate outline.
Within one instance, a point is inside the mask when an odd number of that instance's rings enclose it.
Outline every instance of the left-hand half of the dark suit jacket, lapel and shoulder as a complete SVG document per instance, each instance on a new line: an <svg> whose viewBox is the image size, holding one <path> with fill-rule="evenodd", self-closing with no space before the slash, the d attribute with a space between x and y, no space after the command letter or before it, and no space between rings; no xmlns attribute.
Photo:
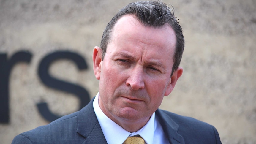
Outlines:
<svg viewBox="0 0 256 144"><path fill-rule="evenodd" d="M93 100L78 112L63 116L48 125L39 126L19 134L13 139L12 144L106 143L92 102Z"/></svg>

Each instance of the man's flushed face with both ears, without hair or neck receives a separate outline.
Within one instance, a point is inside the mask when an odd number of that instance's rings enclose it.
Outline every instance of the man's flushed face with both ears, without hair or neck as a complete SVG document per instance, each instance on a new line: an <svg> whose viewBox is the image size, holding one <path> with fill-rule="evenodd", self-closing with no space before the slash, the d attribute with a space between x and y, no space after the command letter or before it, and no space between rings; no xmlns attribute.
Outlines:
<svg viewBox="0 0 256 144"><path fill-rule="evenodd" d="M113 121L147 121L182 74L170 77L176 36L170 26L145 27L132 15L116 23L104 60L94 48L99 106Z"/></svg>

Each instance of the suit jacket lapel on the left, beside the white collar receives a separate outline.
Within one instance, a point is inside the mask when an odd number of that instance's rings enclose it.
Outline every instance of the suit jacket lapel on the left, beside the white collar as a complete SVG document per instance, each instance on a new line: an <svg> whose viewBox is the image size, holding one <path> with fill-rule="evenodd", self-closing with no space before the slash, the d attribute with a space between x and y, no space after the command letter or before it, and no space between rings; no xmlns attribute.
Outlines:
<svg viewBox="0 0 256 144"><path fill-rule="evenodd" d="M77 133L86 138L85 143L107 144L102 129L93 109L93 100L82 108L78 114Z"/></svg>

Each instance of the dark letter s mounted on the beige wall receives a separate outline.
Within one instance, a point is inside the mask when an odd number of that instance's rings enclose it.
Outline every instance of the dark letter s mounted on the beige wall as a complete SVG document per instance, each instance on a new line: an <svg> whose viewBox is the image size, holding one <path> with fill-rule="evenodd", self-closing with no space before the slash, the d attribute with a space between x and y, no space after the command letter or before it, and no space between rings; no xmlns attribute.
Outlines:
<svg viewBox="0 0 256 144"><path fill-rule="evenodd" d="M60 91L72 93L72 94L75 94L76 96L78 96L78 98L80 99L80 108L79 108L79 110L80 110L81 108L86 106L90 101L90 96L89 96L88 91L86 91L86 89L84 89L83 87L81 87L79 85L76 85L73 83L68 83L63 80L59 80L55 77L52 77L49 74L50 64L53 61L56 61L59 59L72 60L78 66L78 69L80 69L80 70L87 69L87 64L86 64L85 59L82 56L80 56L78 53L74 53L74 52L70 52L70 51L55 51L55 52L50 53L49 55L45 56L42 59L42 61L39 64L39 67L38 67L38 75L39 75L42 83L44 83L46 86L53 88L53 89L60 90ZM39 112L41 113L41 115L48 121L54 121L57 118L61 117L59 115L53 114L49 110L46 102L37 103L37 108L38 108Z"/></svg>

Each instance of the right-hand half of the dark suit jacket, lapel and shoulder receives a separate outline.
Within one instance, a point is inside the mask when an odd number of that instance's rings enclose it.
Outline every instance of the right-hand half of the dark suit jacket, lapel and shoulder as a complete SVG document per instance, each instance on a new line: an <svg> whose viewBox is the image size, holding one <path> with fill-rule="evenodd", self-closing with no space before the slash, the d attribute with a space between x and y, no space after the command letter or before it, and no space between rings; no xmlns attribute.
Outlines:
<svg viewBox="0 0 256 144"><path fill-rule="evenodd" d="M221 144L217 130L210 124L160 109L156 111L156 115L169 141L186 144Z"/></svg>

